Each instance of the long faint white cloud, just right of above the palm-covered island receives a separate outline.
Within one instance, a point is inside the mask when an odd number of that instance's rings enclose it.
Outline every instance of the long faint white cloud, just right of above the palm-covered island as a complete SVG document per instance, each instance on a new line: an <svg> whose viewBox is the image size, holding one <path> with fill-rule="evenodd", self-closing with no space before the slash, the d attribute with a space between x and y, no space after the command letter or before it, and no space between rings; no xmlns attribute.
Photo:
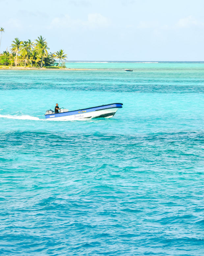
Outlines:
<svg viewBox="0 0 204 256"><path fill-rule="evenodd" d="M53 27L77 27L77 26L83 26L83 27L89 27L89 28L95 28L95 27L108 27L110 26L111 21L109 18L104 17L100 13L91 13L88 15L87 20L82 19L72 19L69 15L65 15L63 18L54 18L49 25L49 28Z"/></svg>

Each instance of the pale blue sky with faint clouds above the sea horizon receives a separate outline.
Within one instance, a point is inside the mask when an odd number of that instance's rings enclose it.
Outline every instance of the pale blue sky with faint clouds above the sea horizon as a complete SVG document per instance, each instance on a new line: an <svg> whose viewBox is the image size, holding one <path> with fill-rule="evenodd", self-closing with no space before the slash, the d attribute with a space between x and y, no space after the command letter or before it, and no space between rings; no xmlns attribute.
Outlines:
<svg viewBox="0 0 204 256"><path fill-rule="evenodd" d="M68 60L203 61L203 0L0 0L1 52L46 38Z"/></svg>

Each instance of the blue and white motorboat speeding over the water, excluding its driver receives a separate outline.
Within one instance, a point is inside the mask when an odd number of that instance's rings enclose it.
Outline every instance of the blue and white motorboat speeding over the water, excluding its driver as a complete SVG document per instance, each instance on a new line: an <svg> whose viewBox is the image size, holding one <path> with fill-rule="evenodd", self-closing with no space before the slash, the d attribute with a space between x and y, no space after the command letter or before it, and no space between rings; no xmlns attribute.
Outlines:
<svg viewBox="0 0 204 256"><path fill-rule="evenodd" d="M78 109L68 111L68 109L61 108L59 113L53 110L47 110L45 113L46 120L85 120L93 118L111 118L115 115L118 108L122 108L122 103L112 103L108 105L101 105L97 107Z"/></svg>

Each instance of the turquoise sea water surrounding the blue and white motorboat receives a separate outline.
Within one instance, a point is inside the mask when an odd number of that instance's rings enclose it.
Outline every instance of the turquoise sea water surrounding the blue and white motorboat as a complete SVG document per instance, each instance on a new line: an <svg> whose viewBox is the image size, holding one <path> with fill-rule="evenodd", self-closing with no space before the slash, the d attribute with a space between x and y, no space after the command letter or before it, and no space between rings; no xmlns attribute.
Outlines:
<svg viewBox="0 0 204 256"><path fill-rule="evenodd" d="M203 255L204 64L67 67L0 70L0 255Z"/></svg>

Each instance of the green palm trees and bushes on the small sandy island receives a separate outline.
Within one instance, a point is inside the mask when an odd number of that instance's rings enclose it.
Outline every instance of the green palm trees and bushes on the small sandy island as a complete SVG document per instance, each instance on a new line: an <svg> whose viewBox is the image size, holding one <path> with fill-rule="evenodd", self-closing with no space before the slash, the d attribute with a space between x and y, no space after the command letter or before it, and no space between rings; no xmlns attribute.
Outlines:
<svg viewBox="0 0 204 256"><path fill-rule="evenodd" d="M0 32L2 36L4 29L0 28ZM30 39L23 42L15 38L11 44L11 53L8 50L0 53L0 65L60 68L60 61L66 59L67 55L63 50L56 53L48 53L48 50L47 42L42 36L39 36L35 43ZM56 63L55 59L59 59L59 63ZM61 68L65 67L65 64L61 64Z"/></svg>

